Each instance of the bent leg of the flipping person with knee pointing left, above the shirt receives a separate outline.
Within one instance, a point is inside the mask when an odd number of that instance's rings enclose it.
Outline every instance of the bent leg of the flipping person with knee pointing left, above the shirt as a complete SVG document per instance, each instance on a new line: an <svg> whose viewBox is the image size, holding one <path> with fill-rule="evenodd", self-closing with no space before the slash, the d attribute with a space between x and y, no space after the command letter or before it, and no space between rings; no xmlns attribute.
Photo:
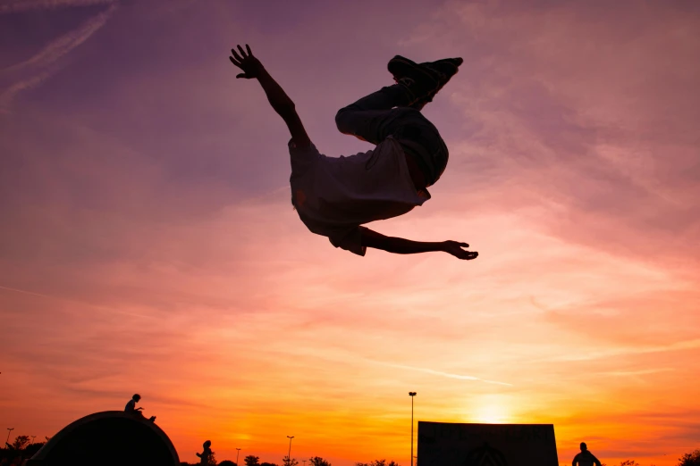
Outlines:
<svg viewBox="0 0 700 466"><path fill-rule="evenodd" d="M342 134L377 145L398 128L395 123L405 108L392 110L393 107L408 101L405 87L400 84L382 87L339 110L335 115L335 124Z"/></svg>

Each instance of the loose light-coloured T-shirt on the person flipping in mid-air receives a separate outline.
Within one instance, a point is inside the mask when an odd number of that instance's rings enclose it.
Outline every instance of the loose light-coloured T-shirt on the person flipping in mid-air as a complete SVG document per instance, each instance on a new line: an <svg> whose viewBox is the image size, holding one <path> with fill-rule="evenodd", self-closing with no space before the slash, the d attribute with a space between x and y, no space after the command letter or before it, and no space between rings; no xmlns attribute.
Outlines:
<svg viewBox="0 0 700 466"><path fill-rule="evenodd" d="M360 225L397 217L430 199L427 190L417 192L406 155L393 137L350 156L327 157L313 144L299 149L293 140L289 150L291 196L299 219L351 253L367 250Z"/></svg>

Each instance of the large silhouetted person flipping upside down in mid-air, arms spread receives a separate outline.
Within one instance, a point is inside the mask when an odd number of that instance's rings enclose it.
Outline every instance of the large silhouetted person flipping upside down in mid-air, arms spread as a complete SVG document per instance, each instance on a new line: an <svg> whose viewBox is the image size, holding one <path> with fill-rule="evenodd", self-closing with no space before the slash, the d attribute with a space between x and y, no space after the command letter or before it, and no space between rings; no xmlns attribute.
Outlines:
<svg viewBox="0 0 700 466"><path fill-rule="evenodd" d="M385 237L362 225L397 217L430 199L427 187L440 179L448 151L434 125L420 112L457 73L461 58L415 63L400 55L389 61L396 84L382 87L335 116L343 134L375 145L366 153L327 157L316 150L294 103L246 45L229 57L257 79L267 100L291 132L291 203L307 228L328 237L335 247L365 255L367 247L395 254L443 251L460 259L477 253L457 241L423 242Z"/></svg>

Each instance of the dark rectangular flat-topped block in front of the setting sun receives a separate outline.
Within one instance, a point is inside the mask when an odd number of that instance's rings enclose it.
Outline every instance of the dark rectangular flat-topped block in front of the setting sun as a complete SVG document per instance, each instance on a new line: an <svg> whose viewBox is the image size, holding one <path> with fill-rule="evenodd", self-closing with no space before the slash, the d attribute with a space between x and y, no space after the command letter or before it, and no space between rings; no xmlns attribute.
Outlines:
<svg viewBox="0 0 700 466"><path fill-rule="evenodd" d="M418 421L417 466L558 466L553 424Z"/></svg>

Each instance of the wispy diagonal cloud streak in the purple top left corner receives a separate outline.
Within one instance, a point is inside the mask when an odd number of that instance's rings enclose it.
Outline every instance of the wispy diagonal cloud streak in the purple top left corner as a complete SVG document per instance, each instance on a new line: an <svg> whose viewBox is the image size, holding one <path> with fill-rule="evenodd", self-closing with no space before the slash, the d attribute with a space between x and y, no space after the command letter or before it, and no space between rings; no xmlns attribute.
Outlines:
<svg viewBox="0 0 700 466"><path fill-rule="evenodd" d="M62 37L58 37L30 59L6 68L3 71L4 73L23 71L28 68L38 69L39 71L33 76L20 79L10 87L7 87L4 92L0 94L0 111L7 112L9 105L12 103L17 93L32 87L37 87L43 81L53 76L56 71L60 70L61 67L58 65L58 61L66 54L69 54L75 47L80 46L80 44L88 40L89 37L102 28L109 17L112 16L117 9L117 4L113 2L109 3L111 4L109 8L90 18L80 26L80 28L74 29L64 34Z"/></svg>

